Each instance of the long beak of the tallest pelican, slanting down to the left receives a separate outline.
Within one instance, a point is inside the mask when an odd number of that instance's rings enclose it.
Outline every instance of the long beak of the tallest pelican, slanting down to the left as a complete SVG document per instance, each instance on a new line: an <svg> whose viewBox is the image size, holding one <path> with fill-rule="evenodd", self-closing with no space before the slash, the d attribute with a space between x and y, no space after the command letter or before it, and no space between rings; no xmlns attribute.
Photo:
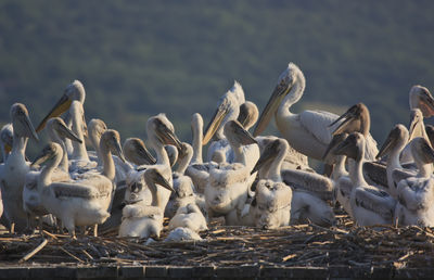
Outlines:
<svg viewBox="0 0 434 280"><path fill-rule="evenodd" d="M253 136L256 137L260 135L270 123L272 115L278 110L280 103L283 98L291 91L294 86L294 80L292 79L282 79L275 88L271 93L270 99L267 102L263 113L259 116L258 123L256 124L255 130L253 131Z"/></svg>

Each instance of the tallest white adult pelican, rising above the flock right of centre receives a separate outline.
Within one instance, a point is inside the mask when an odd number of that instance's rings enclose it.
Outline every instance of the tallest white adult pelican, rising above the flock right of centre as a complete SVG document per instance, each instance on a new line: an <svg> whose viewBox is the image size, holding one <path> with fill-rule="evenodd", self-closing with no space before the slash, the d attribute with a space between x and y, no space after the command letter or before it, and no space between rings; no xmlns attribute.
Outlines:
<svg viewBox="0 0 434 280"><path fill-rule="evenodd" d="M290 112L291 106L302 98L305 85L302 71L294 63L290 63L280 75L253 135L260 135L275 115L279 131L291 147L302 154L321 160L332 140L328 126L337 115L323 111L304 111L299 114Z"/></svg>

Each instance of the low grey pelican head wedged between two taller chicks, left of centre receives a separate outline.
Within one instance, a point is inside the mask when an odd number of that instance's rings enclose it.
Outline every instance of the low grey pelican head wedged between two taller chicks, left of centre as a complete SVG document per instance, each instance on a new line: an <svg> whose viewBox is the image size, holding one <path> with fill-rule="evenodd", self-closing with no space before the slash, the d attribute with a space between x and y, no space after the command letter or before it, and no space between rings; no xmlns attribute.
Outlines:
<svg viewBox="0 0 434 280"><path fill-rule="evenodd" d="M125 140L123 149L124 155L128 162L131 162L136 165L156 163L154 156L152 156L143 141L139 138L128 138Z"/></svg>

